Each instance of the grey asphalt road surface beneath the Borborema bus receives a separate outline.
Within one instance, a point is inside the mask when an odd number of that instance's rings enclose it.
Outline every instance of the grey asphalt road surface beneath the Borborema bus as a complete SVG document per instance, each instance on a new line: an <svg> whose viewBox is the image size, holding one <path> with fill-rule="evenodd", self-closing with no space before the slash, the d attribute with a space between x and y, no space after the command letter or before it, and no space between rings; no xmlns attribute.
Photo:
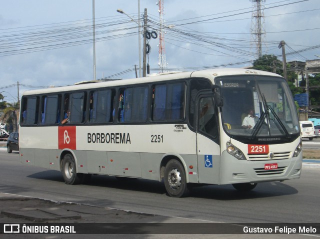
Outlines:
<svg viewBox="0 0 320 239"><path fill-rule="evenodd" d="M210 222L320 223L319 182L320 169L304 168L300 179L261 183L247 193L203 186L177 199L163 183L140 179L93 176L88 185L69 186L60 172L22 165L17 152L0 149L1 193Z"/></svg>

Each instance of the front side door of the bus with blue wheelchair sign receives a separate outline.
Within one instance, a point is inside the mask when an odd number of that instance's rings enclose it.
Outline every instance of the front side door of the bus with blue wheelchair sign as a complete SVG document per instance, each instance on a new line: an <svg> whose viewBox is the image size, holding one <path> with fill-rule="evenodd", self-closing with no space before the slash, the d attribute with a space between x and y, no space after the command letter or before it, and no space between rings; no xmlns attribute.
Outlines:
<svg viewBox="0 0 320 239"><path fill-rule="evenodd" d="M198 95L196 100L196 151L199 183L218 184L220 145L217 108L212 94Z"/></svg>

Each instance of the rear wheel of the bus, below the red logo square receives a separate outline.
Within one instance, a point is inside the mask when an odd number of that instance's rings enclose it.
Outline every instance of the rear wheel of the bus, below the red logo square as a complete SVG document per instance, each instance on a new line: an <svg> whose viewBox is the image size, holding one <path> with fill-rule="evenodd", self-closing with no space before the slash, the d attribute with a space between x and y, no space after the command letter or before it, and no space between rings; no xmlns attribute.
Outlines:
<svg viewBox="0 0 320 239"><path fill-rule="evenodd" d="M82 174L76 173L75 162L70 154L66 154L63 157L61 173L65 184L75 185L80 184L82 180Z"/></svg>

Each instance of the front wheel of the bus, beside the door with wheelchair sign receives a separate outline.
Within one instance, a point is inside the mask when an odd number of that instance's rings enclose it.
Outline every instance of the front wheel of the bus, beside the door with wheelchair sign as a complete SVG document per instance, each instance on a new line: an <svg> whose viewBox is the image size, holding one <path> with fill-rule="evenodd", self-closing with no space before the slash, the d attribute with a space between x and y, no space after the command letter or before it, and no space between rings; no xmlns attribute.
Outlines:
<svg viewBox="0 0 320 239"><path fill-rule="evenodd" d="M167 194L174 198L186 197L189 194L184 169L175 159L171 159L165 166L164 186Z"/></svg>

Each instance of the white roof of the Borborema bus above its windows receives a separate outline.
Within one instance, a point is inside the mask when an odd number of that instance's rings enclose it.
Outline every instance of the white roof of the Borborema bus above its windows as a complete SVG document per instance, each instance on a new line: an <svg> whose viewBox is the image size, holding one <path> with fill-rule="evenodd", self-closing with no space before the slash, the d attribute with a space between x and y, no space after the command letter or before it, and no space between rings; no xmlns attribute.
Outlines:
<svg viewBox="0 0 320 239"><path fill-rule="evenodd" d="M266 71L260 71L260 70L252 70L252 69L245 69L245 68L221 68L221 69L208 69L208 70L189 71L189 72L165 72L157 75L151 75L149 77L102 81L102 82L96 82L94 84L83 84L84 82L82 81L80 84L50 87L50 88L37 89L37 90L28 90L28 91L24 91L22 95L24 96L24 95L35 95L35 94L49 94L53 92L86 90L86 89L95 89L100 87L128 86L131 84L143 84L143 83L150 83L154 81L166 81L166 80L173 80L173 79L187 79L190 77L205 77L210 79L213 83L214 78L218 76L248 75L248 74L281 77L278 74L266 72Z"/></svg>

